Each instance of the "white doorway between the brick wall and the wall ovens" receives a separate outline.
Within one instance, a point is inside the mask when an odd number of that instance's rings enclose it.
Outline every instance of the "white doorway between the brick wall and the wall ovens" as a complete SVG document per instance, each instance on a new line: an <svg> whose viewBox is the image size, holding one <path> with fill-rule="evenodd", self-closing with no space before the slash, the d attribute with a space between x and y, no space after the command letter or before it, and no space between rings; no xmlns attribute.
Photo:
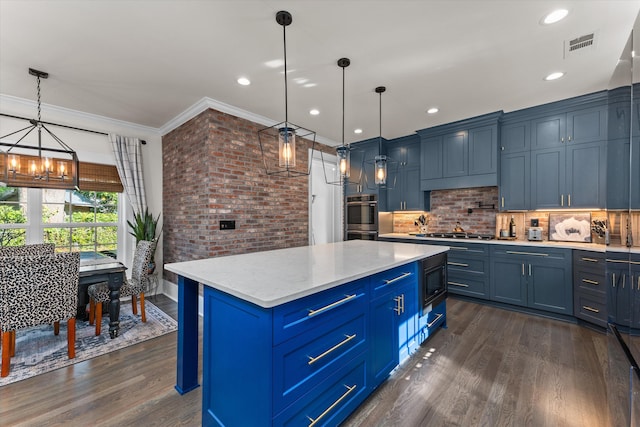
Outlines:
<svg viewBox="0 0 640 427"><path fill-rule="evenodd" d="M327 184L340 179L337 157L318 151L309 151L309 245L340 242L343 240L341 185ZM326 164L323 164L322 157ZM326 173L326 180L325 180Z"/></svg>

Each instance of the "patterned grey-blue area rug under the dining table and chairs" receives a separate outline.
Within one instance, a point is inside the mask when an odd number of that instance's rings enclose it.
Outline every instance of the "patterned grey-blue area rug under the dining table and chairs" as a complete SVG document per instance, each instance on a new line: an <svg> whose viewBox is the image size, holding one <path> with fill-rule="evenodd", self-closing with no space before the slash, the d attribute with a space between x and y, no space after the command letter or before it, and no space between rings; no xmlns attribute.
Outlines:
<svg viewBox="0 0 640 427"><path fill-rule="evenodd" d="M7 384L44 374L93 357L120 350L130 345L168 334L177 329L178 323L156 307L145 301L146 323L140 319L140 311L135 316L131 303L120 305L120 332L109 337L109 315L102 318L102 333L95 335L95 326L88 321L76 322L76 357L67 355L67 326L60 323L60 334L53 334L53 326L37 326L19 330L16 334L16 355L11 358L9 376L0 378L0 387Z"/></svg>

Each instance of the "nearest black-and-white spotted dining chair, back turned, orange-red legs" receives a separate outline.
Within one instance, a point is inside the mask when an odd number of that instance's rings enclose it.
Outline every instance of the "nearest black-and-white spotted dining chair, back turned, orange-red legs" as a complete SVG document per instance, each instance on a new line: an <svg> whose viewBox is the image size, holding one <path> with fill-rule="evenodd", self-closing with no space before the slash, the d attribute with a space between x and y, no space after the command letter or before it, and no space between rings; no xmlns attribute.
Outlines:
<svg viewBox="0 0 640 427"><path fill-rule="evenodd" d="M16 330L67 321L67 351L75 357L80 253L0 257L1 376L9 375Z"/></svg>

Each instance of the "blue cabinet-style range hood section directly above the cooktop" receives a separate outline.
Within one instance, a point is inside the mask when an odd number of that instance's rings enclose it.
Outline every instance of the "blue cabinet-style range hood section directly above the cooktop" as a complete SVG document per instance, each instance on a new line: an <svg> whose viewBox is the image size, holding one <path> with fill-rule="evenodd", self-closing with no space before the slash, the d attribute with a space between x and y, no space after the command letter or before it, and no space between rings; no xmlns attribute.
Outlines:
<svg viewBox="0 0 640 427"><path fill-rule="evenodd" d="M423 191L498 185L502 112L417 131Z"/></svg>

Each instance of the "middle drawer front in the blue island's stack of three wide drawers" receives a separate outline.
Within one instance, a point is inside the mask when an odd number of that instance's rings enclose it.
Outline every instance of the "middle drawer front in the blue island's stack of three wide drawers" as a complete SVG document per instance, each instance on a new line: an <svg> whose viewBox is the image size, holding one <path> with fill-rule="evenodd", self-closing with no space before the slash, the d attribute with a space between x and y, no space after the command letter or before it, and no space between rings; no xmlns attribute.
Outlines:
<svg viewBox="0 0 640 427"><path fill-rule="evenodd" d="M365 350L364 314L335 327L326 326L299 335L274 349L276 413Z"/></svg>

